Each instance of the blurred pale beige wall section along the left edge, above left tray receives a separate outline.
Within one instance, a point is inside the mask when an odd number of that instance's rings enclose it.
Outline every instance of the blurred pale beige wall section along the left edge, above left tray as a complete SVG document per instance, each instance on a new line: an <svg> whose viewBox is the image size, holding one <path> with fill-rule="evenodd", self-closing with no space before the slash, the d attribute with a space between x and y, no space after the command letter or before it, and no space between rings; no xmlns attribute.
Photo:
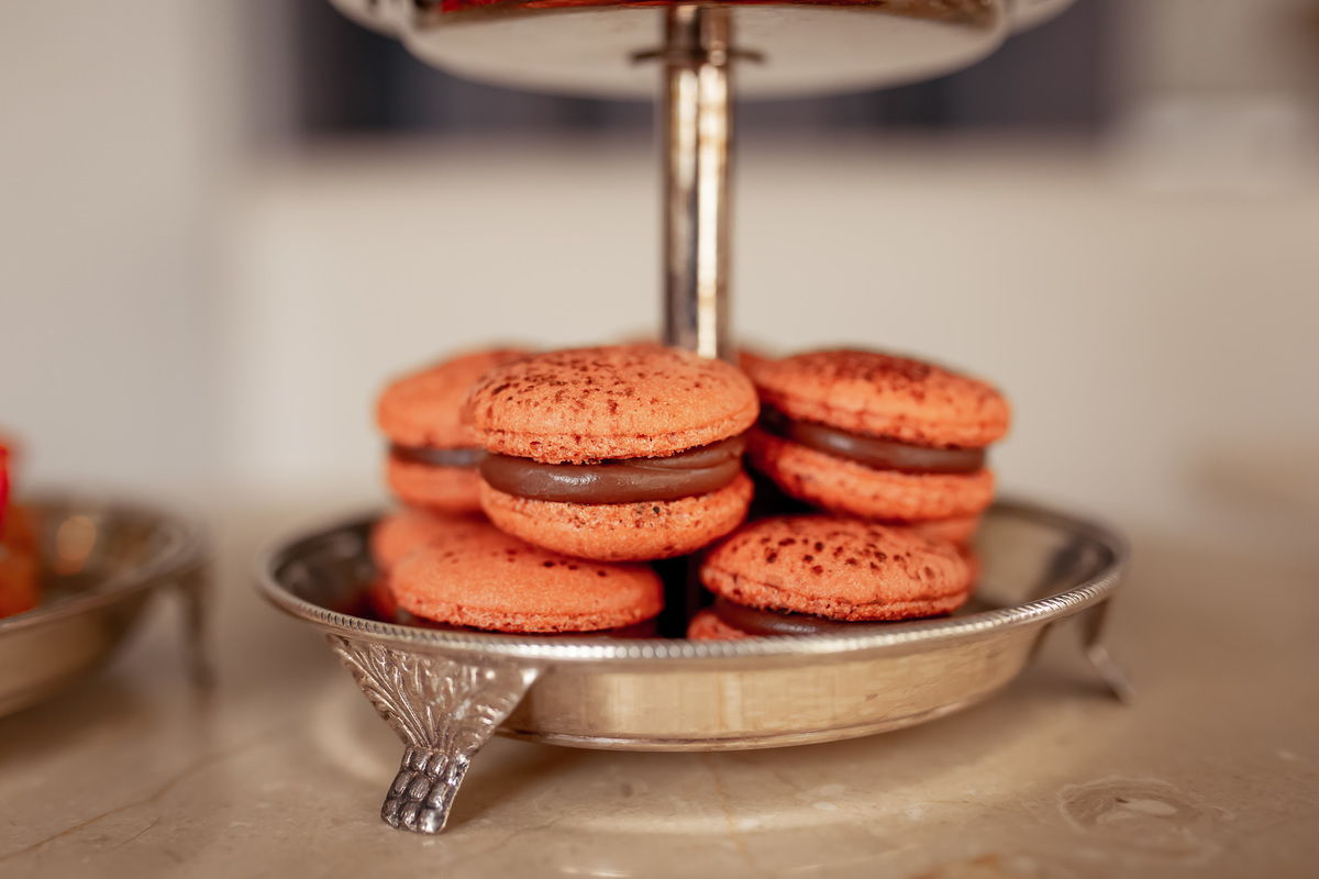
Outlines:
<svg viewBox="0 0 1319 879"><path fill-rule="evenodd" d="M0 4L0 426L37 482L214 478L232 4Z"/></svg>

